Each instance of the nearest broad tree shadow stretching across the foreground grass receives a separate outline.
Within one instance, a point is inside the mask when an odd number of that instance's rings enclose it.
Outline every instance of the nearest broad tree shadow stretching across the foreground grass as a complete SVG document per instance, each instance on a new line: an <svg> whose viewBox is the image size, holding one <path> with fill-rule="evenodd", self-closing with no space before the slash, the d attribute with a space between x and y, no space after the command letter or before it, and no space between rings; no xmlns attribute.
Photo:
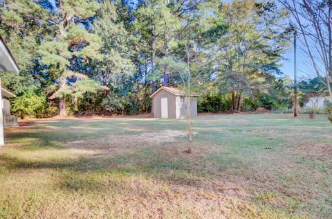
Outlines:
<svg viewBox="0 0 332 219"><path fill-rule="evenodd" d="M194 170L185 157L170 161L155 152L147 152L145 155L142 153L118 156L104 154L46 161L0 154L0 165L11 171L56 170L57 185L66 191L107 189L110 184L114 184L114 175L118 176L116 182L120 182L122 178L142 176L148 181L190 186L195 189L202 189L205 186L203 182L208 180L208 176Z"/></svg>

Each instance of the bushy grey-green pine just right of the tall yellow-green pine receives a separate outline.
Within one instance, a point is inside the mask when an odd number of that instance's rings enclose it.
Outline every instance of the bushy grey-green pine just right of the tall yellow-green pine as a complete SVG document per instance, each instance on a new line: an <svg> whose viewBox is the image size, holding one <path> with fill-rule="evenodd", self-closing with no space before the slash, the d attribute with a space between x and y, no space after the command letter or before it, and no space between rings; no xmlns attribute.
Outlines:
<svg viewBox="0 0 332 219"><path fill-rule="evenodd" d="M109 91L121 88L125 80L133 73L131 58L135 55L137 37L130 35L124 28L116 12L116 6L110 1L103 1L97 12L98 21L93 24L93 33L102 40L101 58L95 60L98 78Z"/></svg>

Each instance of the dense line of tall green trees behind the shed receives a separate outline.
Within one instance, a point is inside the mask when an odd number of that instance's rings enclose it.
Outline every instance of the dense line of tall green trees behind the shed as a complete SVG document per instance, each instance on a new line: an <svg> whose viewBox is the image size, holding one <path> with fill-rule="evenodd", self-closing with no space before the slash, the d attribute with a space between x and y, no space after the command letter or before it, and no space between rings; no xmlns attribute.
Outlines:
<svg viewBox="0 0 332 219"><path fill-rule="evenodd" d="M22 118L148 113L158 87L185 81L200 112L291 107L289 16L274 1L0 0L20 68L1 80Z"/></svg>

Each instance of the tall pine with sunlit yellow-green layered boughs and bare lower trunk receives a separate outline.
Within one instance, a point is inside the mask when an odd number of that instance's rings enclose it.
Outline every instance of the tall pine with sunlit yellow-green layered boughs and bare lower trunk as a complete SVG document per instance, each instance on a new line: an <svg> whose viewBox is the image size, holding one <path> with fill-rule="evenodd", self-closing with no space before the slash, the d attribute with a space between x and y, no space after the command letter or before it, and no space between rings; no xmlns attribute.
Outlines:
<svg viewBox="0 0 332 219"><path fill-rule="evenodd" d="M84 91L102 88L88 76L76 71L77 62L88 62L89 58L100 59L100 37L83 27L85 21L95 15L99 3L89 0L57 0L55 3L57 8L52 23L56 35L53 40L42 42L39 54L42 64L56 66L59 71L59 87L53 98L59 98L59 115L66 116L66 95L73 95L77 99Z"/></svg>

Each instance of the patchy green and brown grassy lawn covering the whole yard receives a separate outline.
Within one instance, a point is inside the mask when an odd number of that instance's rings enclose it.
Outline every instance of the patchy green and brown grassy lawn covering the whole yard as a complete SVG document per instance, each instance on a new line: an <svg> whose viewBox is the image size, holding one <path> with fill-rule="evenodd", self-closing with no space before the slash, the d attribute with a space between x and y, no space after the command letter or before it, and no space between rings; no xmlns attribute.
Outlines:
<svg viewBox="0 0 332 219"><path fill-rule="evenodd" d="M190 155L185 129L134 117L8 128L0 218L332 218L324 116L199 116Z"/></svg>

